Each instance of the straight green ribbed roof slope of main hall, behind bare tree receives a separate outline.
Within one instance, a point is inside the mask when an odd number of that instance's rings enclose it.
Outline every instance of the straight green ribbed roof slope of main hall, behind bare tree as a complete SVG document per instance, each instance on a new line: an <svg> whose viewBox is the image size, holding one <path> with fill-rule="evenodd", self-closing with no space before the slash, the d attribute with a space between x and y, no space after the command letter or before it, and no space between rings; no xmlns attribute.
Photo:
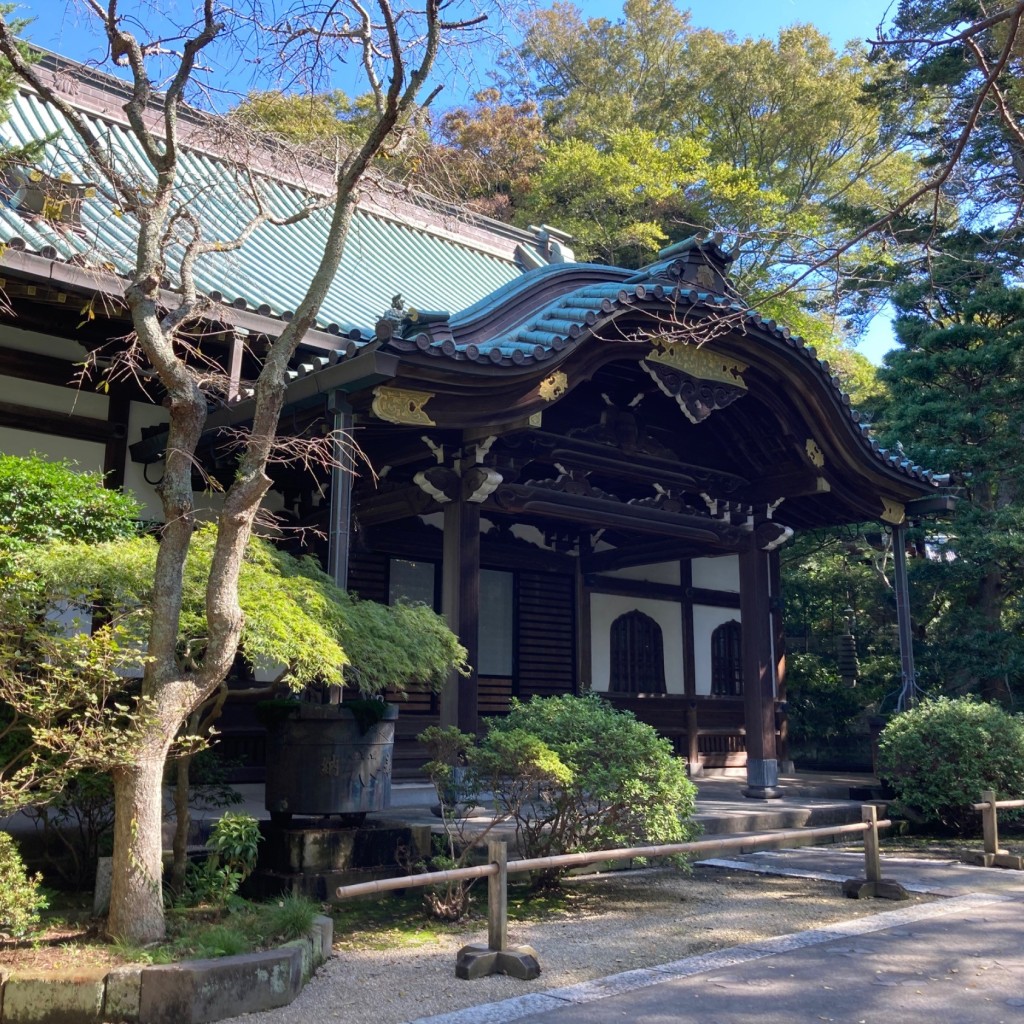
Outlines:
<svg viewBox="0 0 1024 1024"><path fill-rule="evenodd" d="M140 183L152 177L137 143L124 127L94 116L85 119L106 140L123 173ZM56 137L47 145L41 168L53 177L67 173L73 181L84 182L90 176L84 147L59 113L37 96L19 93L11 104L9 121L0 126L0 139L9 142L25 143L51 134ZM181 173L183 195L187 194L189 209L203 220L207 237L229 241L254 209L240 194L230 167L204 153L184 150ZM308 193L293 184L264 179L263 185L267 205L276 214L292 213L309 199ZM26 216L18 211L16 193L8 190L0 199L6 200L0 205L0 242L49 258L128 271L133 225L101 188L82 203L77 230ZM267 315L291 312L313 273L329 221L330 211L322 210L289 227L262 225L239 252L212 253L201 261L200 289L216 293L228 304ZM514 242L509 249L513 246ZM172 250L172 266L175 255ZM463 309L521 272L511 257L504 259L444 232L357 210L318 325L337 325L343 332L372 331L391 296L398 293L413 306Z"/></svg>

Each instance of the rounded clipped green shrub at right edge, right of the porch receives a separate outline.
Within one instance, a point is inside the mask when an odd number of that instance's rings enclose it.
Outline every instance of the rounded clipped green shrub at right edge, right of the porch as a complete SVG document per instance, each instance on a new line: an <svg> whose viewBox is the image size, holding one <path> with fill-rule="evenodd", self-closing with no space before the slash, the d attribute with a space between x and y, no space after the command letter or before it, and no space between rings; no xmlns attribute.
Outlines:
<svg viewBox="0 0 1024 1024"><path fill-rule="evenodd" d="M973 697L925 700L897 715L879 740L879 769L910 818L977 828L982 791L1024 795L1024 718Z"/></svg>

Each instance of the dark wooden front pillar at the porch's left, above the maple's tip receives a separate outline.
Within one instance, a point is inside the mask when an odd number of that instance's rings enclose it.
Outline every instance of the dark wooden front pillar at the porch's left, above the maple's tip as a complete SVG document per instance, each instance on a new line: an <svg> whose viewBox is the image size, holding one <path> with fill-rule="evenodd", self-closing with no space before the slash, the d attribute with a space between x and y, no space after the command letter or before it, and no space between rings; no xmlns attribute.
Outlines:
<svg viewBox="0 0 1024 1024"><path fill-rule="evenodd" d="M441 612L469 652L470 675L453 673L441 692L441 725L477 729L477 632L480 607L480 506L457 499L444 506Z"/></svg>

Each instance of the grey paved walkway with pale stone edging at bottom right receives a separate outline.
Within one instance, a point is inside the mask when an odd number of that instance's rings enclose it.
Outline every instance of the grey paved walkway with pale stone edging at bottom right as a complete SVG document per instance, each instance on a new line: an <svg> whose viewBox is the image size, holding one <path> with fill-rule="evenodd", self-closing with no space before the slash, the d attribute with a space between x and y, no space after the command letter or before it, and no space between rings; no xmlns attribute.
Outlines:
<svg viewBox="0 0 1024 1024"><path fill-rule="evenodd" d="M751 854L733 869L849 878L860 854ZM946 898L414 1024L1024 1024L1024 873L883 857Z"/></svg>

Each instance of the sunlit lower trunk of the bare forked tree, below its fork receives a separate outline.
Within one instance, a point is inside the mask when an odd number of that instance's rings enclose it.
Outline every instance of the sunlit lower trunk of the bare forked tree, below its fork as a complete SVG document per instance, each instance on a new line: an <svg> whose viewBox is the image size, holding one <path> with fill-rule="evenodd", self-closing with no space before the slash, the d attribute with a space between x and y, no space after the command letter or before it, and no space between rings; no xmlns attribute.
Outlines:
<svg viewBox="0 0 1024 1024"><path fill-rule="evenodd" d="M114 770L114 872L108 934L143 944L165 935L163 780L168 743L160 729L135 763Z"/></svg>

